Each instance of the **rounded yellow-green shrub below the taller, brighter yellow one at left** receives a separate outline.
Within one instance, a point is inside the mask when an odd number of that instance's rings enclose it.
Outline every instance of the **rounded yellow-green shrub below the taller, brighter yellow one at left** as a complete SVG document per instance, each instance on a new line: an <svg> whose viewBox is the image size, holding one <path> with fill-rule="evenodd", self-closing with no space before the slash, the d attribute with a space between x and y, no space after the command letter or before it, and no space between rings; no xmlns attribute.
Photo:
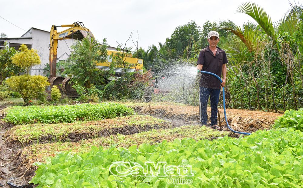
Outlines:
<svg viewBox="0 0 303 188"><path fill-rule="evenodd" d="M38 94L44 92L45 87L49 86L45 76L26 74L9 77L6 83L13 91L20 93L25 104L28 104L30 99L38 97Z"/></svg>

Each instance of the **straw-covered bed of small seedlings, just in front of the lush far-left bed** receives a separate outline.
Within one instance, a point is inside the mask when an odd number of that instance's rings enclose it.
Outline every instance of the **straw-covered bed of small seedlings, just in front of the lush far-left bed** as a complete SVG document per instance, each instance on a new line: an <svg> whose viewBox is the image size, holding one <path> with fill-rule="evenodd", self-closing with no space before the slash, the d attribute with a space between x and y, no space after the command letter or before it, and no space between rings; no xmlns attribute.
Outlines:
<svg viewBox="0 0 303 188"><path fill-rule="evenodd" d="M68 135L74 134L76 139L81 139L82 135L87 138L95 138L101 134L128 134L141 132L151 128L171 128L170 122L154 118L151 116L134 115L105 119L101 121L86 121L62 124L28 124L16 125L5 134L6 141L18 141L32 143L45 141L53 138L53 141L66 140ZM115 129L122 128L122 129ZM44 139L43 139L44 138Z"/></svg>

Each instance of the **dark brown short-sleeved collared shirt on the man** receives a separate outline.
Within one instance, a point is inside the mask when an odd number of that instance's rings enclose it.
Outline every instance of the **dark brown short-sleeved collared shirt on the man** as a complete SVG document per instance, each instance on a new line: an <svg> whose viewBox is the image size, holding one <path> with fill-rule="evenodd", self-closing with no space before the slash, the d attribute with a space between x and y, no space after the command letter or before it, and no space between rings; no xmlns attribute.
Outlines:
<svg viewBox="0 0 303 188"><path fill-rule="evenodd" d="M209 49L209 46L202 49L199 53L197 65L203 65L202 71L207 71L218 75L221 78L222 65L228 63L226 53L217 47L216 55ZM213 75L201 73L200 87L221 89L221 82Z"/></svg>

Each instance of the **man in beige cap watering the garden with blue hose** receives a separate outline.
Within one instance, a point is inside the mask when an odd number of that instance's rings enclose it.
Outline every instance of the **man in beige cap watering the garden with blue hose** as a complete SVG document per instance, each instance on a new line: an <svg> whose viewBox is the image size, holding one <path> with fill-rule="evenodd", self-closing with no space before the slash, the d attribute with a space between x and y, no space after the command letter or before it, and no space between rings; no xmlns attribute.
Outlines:
<svg viewBox="0 0 303 188"><path fill-rule="evenodd" d="M200 51L197 69L202 71L207 71L218 75L223 78L222 83L220 80L213 75L201 73L200 78L200 96L199 96L199 106L200 106L200 122L202 125L207 126L207 113L206 107L208 98L210 96L211 105L211 124L210 127L214 129L219 129L217 126L217 114L218 114L218 102L221 86L225 86L226 82L226 63L227 57L224 50L217 47L220 41L219 33L216 31L210 31L208 33L207 41L209 46Z"/></svg>

